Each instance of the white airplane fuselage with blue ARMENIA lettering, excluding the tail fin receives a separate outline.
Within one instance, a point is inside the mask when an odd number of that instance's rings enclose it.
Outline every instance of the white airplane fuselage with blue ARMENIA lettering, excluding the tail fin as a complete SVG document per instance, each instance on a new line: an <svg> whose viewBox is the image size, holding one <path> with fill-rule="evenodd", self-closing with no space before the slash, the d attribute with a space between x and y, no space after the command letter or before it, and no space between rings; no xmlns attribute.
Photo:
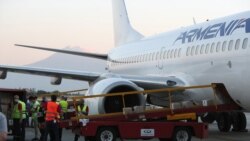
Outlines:
<svg viewBox="0 0 250 141"><path fill-rule="evenodd" d="M108 69L118 74L176 76L186 85L223 83L249 111L249 15L207 21L119 46L109 53Z"/></svg>

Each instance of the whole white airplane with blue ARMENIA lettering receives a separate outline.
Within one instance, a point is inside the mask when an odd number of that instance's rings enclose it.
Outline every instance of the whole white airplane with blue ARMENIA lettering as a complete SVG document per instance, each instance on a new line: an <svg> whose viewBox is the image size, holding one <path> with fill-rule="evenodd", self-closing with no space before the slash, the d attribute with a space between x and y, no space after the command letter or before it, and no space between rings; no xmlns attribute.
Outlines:
<svg viewBox="0 0 250 141"><path fill-rule="evenodd" d="M0 65L0 78L7 72L49 76L52 84L62 79L75 79L90 83L87 95L156 88L205 85L211 82L226 87L231 98L250 110L250 12L243 12L204 23L144 37L130 24L124 0L112 0L115 48L108 54L76 52L46 47L20 45L107 61L108 73L79 72L49 68ZM202 93L202 94L201 94ZM212 99L209 90L185 90L173 94L173 101ZM126 105L144 105L146 102L167 106L164 94L134 95L125 98ZM93 113L121 111L119 97L106 97L89 102ZM112 109L110 109L112 107ZM205 122L217 120L221 131L231 125L235 131L246 128L243 111L207 113ZM233 119L233 120L232 120Z"/></svg>

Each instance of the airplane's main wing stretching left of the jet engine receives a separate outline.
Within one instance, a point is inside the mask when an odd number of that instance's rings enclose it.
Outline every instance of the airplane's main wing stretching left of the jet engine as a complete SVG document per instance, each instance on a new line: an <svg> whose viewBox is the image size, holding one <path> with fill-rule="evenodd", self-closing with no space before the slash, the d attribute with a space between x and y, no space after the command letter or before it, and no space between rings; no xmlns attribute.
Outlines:
<svg viewBox="0 0 250 141"><path fill-rule="evenodd" d="M49 76L55 79L53 84L60 84L62 78L93 82L101 75L94 72L0 65L0 79L5 79L7 72Z"/></svg>

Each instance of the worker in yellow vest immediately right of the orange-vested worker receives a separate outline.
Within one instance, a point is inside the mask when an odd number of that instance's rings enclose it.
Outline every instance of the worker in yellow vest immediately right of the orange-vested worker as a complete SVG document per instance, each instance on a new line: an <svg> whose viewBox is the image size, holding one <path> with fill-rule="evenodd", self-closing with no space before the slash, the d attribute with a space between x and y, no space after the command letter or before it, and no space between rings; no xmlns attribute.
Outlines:
<svg viewBox="0 0 250 141"><path fill-rule="evenodd" d="M68 119L68 101L66 96L62 96L61 100L59 102L59 105L61 107L61 119ZM62 130L63 128L59 127L59 141L62 140Z"/></svg>

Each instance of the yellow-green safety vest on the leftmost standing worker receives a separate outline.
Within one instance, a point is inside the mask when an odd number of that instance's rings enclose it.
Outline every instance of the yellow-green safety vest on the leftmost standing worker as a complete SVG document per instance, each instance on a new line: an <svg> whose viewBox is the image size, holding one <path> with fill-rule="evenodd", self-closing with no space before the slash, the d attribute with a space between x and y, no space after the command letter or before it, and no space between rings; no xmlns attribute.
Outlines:
<svg viewBox="0 0 250 141"><path fill-rule="evenodd" d="M22 112L20 112L18 110L18 105L21 104L22 105ZM13 110L12 110L12 114L11 117L13 119L20 119L21 118L21 114L23 114L22 118L25 119L26 118L26 104L22 101L18 101L18 103L16 105L14 105Z"/></svg>

